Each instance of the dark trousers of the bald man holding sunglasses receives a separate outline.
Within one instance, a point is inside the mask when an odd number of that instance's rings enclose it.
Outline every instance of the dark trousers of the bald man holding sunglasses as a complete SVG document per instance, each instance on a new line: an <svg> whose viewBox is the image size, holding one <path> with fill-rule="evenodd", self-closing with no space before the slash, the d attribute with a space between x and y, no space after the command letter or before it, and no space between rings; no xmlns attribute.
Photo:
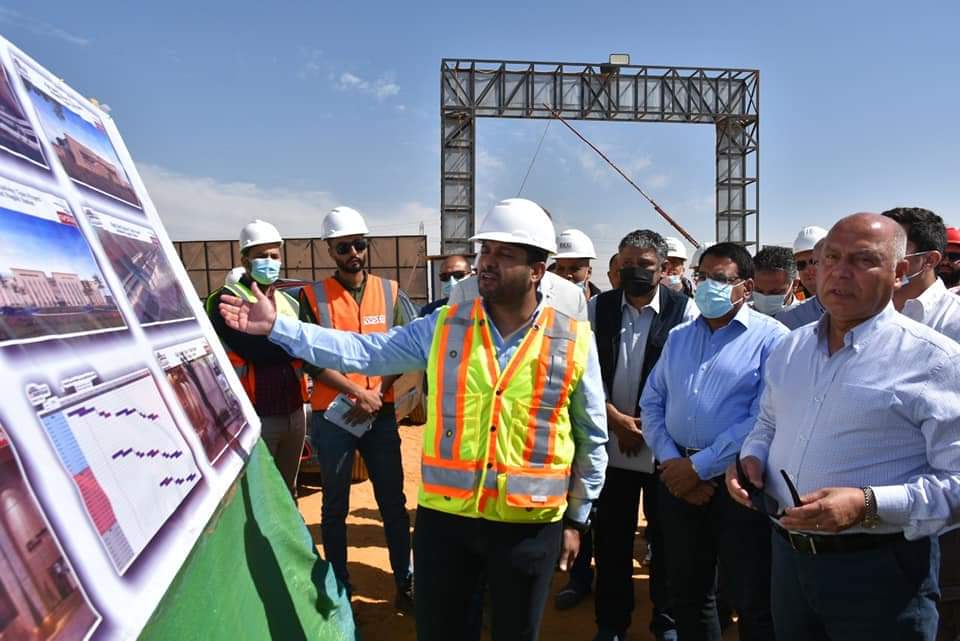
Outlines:
<svg viewBox="0 0 960 641"><path fill-rule="evenodd" d="M936 538L816 556L772 539L777 641L933 641Z"/></svg>

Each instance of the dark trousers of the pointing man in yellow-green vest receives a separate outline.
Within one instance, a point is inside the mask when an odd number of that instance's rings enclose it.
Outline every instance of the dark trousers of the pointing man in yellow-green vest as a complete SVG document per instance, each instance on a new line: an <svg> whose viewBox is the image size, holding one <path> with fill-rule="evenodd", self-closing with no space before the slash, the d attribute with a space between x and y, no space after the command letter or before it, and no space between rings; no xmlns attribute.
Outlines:
<svg viewBox="0 0 960 641"><path fill-rule="evenodd" d="M413 531L417 641L475 639L469 613L486 577L493 641L535 641L563 526L496 523L420 507Z"/></svg>

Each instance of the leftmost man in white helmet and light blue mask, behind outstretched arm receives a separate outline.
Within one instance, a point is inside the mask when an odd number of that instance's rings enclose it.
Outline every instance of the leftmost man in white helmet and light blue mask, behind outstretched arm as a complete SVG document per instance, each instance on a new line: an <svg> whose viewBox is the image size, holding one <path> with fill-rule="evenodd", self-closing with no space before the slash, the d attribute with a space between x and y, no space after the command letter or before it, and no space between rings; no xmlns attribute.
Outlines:
<svg viewBox="0 0 960 641"><path fill-rule="evenodd" d="M216 311L224 292L256 300L250 289L253 283L259 283L264 291L272 290L273 283L280 277L282 247L283 238L270 223L255 220L246 225L240 231L243 266L231 272L224 286L210 294L206 307L230 363L260 417L260 434L290 493L295 495L307 428L300 362L261 336L230 329ZM297 318L299 305L294 298L277 291L274 300L277 313Z"/></svg>

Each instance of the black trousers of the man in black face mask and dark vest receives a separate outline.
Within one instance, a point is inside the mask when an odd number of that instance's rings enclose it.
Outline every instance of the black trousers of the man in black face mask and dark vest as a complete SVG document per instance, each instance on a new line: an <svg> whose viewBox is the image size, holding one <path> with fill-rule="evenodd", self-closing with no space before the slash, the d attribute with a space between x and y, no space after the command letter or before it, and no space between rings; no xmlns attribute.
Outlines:
<svg viewBox="0 0 960 641"><path fill-rule="evenodd" d="M633 613L633 540L637 531L637 511L643 497L647 519L647 541L653 546L650 565L650 601L653 617L650 631L662 635L673 629L669 614L669 593L664 568L663 531L657 514L655 474L607 468L607 478L597 502L594 519L597 546L597 593L594 607L597 626L614 632L630 627Z"/></svg>

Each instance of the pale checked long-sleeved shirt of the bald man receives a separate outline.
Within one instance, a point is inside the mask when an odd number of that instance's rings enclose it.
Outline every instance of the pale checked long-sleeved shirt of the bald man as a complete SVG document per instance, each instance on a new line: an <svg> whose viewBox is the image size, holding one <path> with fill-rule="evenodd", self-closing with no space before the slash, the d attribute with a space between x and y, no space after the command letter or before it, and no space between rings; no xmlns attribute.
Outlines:
<svg viewBox="0 0 960 641"><path fill-rule="evenodd" d="M917 539L957 523L960 345L890 304L830 355L828 323L791 332L771 355L740 455L765 462L767 491L784 506L781 469L801 495L872 487L882 523L867 531Z"/></svg>

